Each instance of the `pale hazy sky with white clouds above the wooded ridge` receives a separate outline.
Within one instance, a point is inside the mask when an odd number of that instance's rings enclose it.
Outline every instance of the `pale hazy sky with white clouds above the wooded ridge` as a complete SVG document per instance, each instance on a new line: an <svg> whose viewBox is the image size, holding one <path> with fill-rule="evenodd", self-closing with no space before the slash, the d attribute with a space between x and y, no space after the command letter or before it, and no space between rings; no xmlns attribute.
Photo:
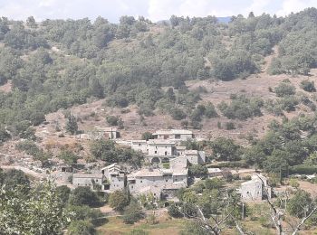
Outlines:
<svg viewBox="0 0 317 235"><path fill-rule="evenodd" d="M101 15L111 23L121 15L143 15L152 22L178 16L231 16L249 12L284 16L307 7L317 7L317 0L0 0L0 16L25 20L33 15L45 19L94 20Z"/></svg>

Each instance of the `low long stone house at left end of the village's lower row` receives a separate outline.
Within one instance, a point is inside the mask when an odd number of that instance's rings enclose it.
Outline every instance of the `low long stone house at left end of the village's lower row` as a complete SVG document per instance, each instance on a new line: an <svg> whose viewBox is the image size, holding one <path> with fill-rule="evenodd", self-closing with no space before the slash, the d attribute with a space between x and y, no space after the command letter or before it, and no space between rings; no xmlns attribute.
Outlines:
<svg viewBox="0 0 317 235"><path fill-rule="evenodd" d="M103 174L72 174L72 185L75 187L88 186L97 190L102 188L103 180Z"/></svg>

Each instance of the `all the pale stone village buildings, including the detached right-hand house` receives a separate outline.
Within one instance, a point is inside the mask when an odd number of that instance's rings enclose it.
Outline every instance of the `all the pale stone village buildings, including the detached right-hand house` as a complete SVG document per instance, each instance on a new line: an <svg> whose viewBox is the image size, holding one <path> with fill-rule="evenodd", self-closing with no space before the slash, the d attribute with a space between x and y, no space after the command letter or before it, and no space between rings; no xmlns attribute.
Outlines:
<svg viewBox="0 0 317 235"><path fill-rule="evenodd" d="M148 141L121 141L118 136L120 134L115 128L106 128L98 132L98 137L112 139L118 144L130 146L133 150L143 153L148 167L130 172L120 164L110 164L93 174L72 174L73 187L90 186L91 189L104 193L129 190L135 196L151 193L158 201L177 201L178 189L188 186L188 166L206 163L204 151L187 150L185 146L181 146L182 141L197 138L190 130L158 130L152 134L154 139ZM219 168L208 168L209 177L222 177L222 174L223 171ZM250 181L242 183L236 191L241 193L244 200L271 197L271 188L263 175L254 174Z"/></svg>

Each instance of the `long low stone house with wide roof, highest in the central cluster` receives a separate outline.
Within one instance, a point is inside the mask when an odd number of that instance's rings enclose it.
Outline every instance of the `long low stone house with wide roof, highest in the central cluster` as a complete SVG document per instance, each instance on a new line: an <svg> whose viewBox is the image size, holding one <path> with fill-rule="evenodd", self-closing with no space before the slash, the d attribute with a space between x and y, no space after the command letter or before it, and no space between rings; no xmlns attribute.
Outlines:
<svg viewBox="0 0 317 235"><path fill-rule="evenodd" d="M185 141L195 137L192 131L183 129L158 130L152 135L157 139L172 139L178 141Z"/></svg>

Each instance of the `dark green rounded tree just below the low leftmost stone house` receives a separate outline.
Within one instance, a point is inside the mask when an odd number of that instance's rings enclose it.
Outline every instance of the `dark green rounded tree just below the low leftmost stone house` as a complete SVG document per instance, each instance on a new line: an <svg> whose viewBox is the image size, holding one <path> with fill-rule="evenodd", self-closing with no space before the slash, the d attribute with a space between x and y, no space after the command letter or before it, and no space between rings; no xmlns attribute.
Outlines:
<svg viewBox="0 0 317 235"><path fill-rule="evenodd" d="M88 186L75 188L70 196L70 204L72 205L96 206L100 203L97 193L91 191Z"/></svg>

